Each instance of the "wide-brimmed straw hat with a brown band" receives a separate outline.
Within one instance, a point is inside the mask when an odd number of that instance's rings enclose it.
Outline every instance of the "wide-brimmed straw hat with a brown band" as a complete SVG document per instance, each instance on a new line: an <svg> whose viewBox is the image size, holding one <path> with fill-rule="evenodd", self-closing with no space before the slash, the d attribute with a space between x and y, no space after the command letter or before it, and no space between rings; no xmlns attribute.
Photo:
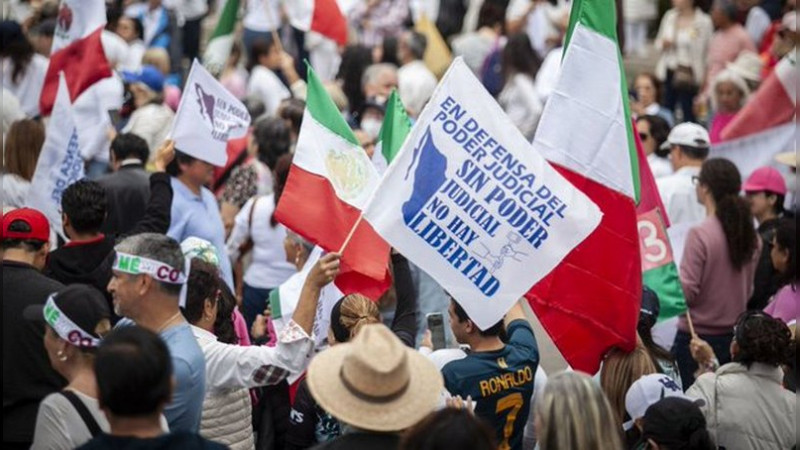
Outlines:
<svg viewBox="0 0 800 450"><path fill-rule="evenodd" d="M317 403L367 431L409 428L436 407L442 375L382 324L364 326L348 343L318 354L308 368Z"/></svg>

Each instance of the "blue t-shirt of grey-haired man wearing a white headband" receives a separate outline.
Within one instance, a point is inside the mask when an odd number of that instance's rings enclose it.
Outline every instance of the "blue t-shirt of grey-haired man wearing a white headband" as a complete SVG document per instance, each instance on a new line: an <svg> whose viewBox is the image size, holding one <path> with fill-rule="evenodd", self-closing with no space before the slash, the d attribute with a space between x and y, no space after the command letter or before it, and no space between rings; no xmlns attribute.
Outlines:
<svg viewBox="0 0 800 450"><path fill-rule="evenodd" d="M188 323L168 328L159 335L172 358L175 390L164 409L169 431L200 431L206 392L206 360Z"/></svg>

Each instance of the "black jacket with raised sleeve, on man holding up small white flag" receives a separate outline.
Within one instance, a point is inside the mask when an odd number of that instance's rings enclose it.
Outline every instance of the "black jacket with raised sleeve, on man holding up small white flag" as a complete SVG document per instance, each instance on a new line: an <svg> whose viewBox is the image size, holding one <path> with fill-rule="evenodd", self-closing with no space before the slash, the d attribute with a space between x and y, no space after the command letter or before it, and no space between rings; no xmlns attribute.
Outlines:
<svg viewBox="0 0 800 450"><path fill-rule="evenodd" d="M172 211L172 184L169 175L154 173L150 176L150 200L138 222L130 227L128 235L139 233L166 234ZM119 205L118 205L119 206ZM44 274L64 284L84 283L96 287L106 296L113 311L111 295L106 289L111 281L114 265L114 245L117 238L67 244L50 253Z"/></svg>

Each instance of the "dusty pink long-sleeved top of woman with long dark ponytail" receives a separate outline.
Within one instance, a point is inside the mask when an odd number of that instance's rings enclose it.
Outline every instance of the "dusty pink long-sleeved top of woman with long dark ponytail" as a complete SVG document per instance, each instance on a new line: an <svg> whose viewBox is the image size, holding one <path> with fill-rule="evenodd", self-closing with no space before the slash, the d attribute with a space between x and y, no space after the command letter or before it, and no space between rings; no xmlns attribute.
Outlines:
<svg viewBox="0 0 800 450"><path fill-rule="evenodd" d="M698 334L733 333L736 319L747 308L747 300L753 293L760 255L759 238L750 261L736 270L730 262L719 219L707 217L689 230L681 260L681 285ZM686 316L680 317L678 329L689 331Z"/></svg>

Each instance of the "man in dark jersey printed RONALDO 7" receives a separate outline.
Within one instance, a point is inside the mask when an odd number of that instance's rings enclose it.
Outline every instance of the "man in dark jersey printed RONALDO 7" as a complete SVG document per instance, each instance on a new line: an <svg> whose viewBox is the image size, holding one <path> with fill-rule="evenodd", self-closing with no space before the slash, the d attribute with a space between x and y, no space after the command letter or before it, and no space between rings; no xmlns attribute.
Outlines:
<svg viewBox="0 0 800 450"><path fill-rule="evenodd" d="M504 321L485 330L454 299L448 313L456 340L472 351L442 368L445 388L452 395L475 400L475 414L494 428L500 449L521 449L539 365L536 336L522 304L516 303ZM500 339L504 330L507 343Z"/></svg>

